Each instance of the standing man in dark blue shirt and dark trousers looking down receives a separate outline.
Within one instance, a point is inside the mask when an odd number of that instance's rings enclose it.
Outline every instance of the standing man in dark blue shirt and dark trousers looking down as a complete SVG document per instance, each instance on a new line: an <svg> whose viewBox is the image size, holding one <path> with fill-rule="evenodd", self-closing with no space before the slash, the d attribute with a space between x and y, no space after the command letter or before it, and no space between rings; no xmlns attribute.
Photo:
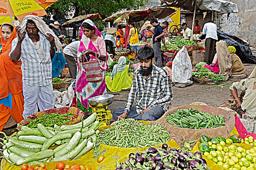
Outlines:
<svg viewBox="0 0 256 170"><path fill-rule="evenodd" d="M153 47L155 52L156 66L161 68L162 67L161 39L164 36L164 32L156 18L151 19L150 24L153 25L153 27L155 27L155 32L153 36Z"/></svg>

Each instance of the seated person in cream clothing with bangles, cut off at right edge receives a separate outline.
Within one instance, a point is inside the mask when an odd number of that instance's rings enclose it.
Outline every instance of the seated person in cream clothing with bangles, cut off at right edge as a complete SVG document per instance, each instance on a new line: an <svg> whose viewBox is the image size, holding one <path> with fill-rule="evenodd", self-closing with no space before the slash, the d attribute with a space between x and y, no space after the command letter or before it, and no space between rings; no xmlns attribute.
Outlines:
<svg viewBox="0 0 256 170"><path fill-rule="evenodd" d="M238 97L237 90L242 90ZM256 78L248 78L235 82L230 86L230 92L235 100L231 106L244 119L255 119L256 116Z"/></svg>

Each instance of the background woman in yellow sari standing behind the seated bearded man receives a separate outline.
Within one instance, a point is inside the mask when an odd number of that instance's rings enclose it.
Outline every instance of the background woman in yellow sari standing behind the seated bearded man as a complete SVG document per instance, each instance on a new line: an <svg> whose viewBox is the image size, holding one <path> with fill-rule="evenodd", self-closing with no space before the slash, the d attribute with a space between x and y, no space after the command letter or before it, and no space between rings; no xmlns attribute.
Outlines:
<svg viewBox="0 0 256 170"><path fill-rule="evenodd" d="M138 30L135 28L135 24L132 22L130 24L130 34L129 34L129 42L130 44L138 43ZM128 55L129 59L134 58L138 53L138 49L135 46L131 46L131 52Z"/></svg>

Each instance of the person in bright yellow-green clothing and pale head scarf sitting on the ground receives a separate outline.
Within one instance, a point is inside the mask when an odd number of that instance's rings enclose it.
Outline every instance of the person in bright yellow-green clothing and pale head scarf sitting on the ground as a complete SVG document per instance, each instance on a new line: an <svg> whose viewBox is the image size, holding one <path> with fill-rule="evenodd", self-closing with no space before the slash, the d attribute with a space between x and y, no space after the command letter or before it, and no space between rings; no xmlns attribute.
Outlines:
<svg viewBox="0 0 256 170"><path fill-rule="evenodd" d="M133 73L128 75L129 65L126 65L125 56L118 59L118 64L113 68L111 76L106 76L106 85L112 92L126 90L133 84Z"/></svg>

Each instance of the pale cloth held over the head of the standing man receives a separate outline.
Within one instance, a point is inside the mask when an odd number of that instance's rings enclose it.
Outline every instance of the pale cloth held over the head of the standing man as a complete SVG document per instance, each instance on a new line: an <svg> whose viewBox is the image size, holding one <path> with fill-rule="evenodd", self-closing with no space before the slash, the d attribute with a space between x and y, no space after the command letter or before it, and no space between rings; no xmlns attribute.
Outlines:
<svg viewBox="0 0 256 170"><path fill-rule="evenodd" d="M26 27L27 27L27 22L29 19L33 20L36 23L41 34L43 34L44 36L48 36L47 35L47 33L48 33L48 34L52 34L54 36L57 52L60 52L62 45L59 41L59 38L53 33L53 31L48 27L48 25L46 25L45 22L37 16L28 15L28 16L23 17L23 19L21 20L21 23L20 23L20 28L21 28L20 33L25 32Z"/></svg>

